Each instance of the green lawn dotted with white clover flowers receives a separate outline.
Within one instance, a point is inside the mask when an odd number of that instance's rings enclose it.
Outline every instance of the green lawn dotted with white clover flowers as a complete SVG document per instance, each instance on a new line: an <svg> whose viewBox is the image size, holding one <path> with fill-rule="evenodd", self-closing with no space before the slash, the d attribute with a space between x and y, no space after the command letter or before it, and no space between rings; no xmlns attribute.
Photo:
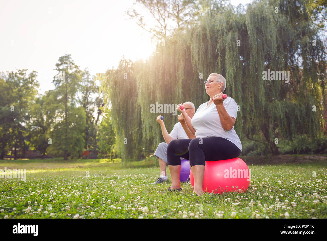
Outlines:
<svg viewBox="0 0 327 241"><path fill-rule="evenodd" d="M0 169L26 169L26 181L0 179L0 217L327 217L325 157L273 165L247 162L248 191L201 197L191 196L187 183L181 184L181 193L166 192L169 184L150 185L159 175L155 163L154 157L128 165L119 159L0 161ZM170 179L168 168L167 175Z"/></svg>

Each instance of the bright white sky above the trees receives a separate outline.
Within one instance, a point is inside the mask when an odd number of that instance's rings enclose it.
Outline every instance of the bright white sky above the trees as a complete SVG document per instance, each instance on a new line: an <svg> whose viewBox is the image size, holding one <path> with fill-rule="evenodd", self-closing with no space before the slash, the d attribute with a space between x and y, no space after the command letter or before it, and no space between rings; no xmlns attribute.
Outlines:
<svg viewBox="0 0 327 241"><path fill-rule="evenodd" d="M133 2L0 0L0 71L35 70L44 93L54 89L52 69L67 53L93 75L116 68L123 56L146 60L155 46L149 33L124 16ZM234 6L249 2L231 1Z"/></svg>

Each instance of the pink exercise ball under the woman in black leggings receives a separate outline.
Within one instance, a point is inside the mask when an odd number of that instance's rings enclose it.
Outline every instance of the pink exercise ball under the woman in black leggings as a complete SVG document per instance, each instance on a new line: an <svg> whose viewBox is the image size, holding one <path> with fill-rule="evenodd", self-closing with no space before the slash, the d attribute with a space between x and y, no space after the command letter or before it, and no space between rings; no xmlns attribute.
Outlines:
<svg viewBox="0 0 327 241"><path fill-rule="evenodd" d="M248 166L238 157L205 162L203 191L214 193L244 192L248 189L250 180L251 173ZM190 172L190 181L192 187L194 187L192 171Z"/></svg>

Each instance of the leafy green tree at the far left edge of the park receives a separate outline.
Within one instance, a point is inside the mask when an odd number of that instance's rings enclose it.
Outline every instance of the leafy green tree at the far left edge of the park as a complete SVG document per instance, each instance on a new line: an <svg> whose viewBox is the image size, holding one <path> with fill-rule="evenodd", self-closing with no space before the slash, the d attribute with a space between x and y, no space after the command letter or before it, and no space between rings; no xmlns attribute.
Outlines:
<svg viewBox="0 0 327 241"><path fill-rule="evenodd" d="M23 157L28 146L26 144L26 123L30 118L30 107L39 87L36 72L26 75L27 70L1 72L0 77L0 158L3 159L6 149L17 150ZM7 149L8 150L8 149Z"/></svg>

